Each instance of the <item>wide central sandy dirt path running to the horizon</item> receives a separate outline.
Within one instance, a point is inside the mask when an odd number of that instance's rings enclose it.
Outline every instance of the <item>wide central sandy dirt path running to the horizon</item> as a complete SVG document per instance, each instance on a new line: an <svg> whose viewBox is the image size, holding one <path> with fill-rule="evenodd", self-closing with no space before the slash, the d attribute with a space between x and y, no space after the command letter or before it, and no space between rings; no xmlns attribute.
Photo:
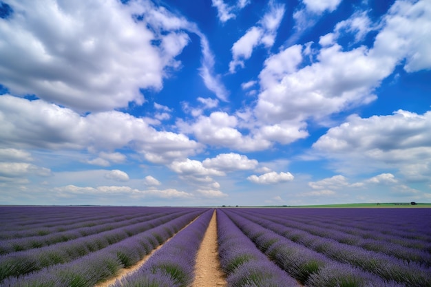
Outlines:
<svg viewBox="0 0 431 287"><path fill-rule="evenodd" d="M216 211L196 257L195 279L191 287L224 287L226 279L218 260Z"/></svg>

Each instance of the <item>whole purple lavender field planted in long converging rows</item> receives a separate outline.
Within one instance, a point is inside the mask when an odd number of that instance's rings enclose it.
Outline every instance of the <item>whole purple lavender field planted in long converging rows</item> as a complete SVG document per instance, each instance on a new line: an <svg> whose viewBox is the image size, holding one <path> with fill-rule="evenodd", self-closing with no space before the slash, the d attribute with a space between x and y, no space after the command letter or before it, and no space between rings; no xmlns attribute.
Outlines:
<svg viewBox="0 0 431 287"><path fill-rule="evenodd" d="M120 206L0 207L0 286L192 286L215 215L225 286L431 286L431 209Z"/></svg>

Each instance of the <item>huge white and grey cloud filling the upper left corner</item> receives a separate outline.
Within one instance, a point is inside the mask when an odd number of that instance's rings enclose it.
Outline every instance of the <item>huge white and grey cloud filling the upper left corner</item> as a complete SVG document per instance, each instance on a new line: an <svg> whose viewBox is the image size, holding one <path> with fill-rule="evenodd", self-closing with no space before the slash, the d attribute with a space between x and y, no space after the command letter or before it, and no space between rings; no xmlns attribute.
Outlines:
<svg viewBox="0 0 431 287"><path fill-rule="evenodd" d="M136 7L155 9L147 2L9 4L14 17L0 26L2 84L12 94L36 94L80 111L142 104L139 89L160 89L165 68L178 66L174 57L187 45L182 32L162 36L134 21ZM157 38L160 47L151 43Z"/></svg>

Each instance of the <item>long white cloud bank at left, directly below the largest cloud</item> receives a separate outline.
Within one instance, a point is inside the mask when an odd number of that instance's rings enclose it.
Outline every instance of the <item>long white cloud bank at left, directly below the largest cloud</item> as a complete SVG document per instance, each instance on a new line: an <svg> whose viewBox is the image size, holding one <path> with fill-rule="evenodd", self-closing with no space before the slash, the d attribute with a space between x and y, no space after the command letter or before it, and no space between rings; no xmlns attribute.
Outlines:
<svg viewBox="0 0 431 287"><path fill-rule="evenodd" d="M186 158L202 145L183 134L157 131L143 118L120 111L81 116L71 109L13 96L0 96L0 138L3 145L45 149L94 149L101 151L90 163L108 166L122 162L122 147L134 149L150 162Z"/></svg>

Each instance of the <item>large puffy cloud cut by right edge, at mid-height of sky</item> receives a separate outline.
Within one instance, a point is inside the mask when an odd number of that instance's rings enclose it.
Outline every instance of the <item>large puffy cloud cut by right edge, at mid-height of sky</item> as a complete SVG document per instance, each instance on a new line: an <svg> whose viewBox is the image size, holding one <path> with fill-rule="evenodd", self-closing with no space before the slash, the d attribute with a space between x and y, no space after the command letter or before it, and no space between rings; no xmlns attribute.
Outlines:
<svg viewBox="0 0 431 287"><path fill-rule="evenodd" d="M431 112L399 110L389 116L350 116L329 129L313 149L337 161L336 169L364 164L368 169L397 169L410 180L431 175ZM358 140L360 139L360 140ZM353 167L355 168L355 167Z"/></svg>

